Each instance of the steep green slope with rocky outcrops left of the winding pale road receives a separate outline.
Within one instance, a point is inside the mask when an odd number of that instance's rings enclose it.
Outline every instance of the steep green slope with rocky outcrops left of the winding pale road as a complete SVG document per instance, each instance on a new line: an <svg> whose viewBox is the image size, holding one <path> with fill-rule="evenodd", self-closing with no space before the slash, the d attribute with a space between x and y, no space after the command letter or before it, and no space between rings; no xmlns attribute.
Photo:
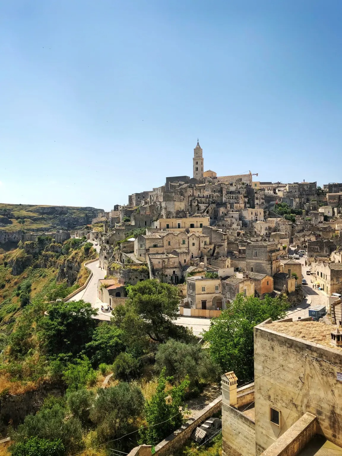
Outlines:
<svg viewBox="0 0 342 456"><path fill-rule="evenodd" d="M63 245L51 240L20 242L19 248L0 254L0 331L10 333L32 299L50 301L83 285L89 274L83 263L96 256L91 244L81 239Z"/></svg>

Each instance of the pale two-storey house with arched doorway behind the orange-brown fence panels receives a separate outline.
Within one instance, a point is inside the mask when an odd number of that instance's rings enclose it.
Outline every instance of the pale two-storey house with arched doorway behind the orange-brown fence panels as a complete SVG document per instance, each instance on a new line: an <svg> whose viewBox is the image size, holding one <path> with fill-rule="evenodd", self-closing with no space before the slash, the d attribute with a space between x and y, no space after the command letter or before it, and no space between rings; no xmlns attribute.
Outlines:
<svg viewBox="0 0 342 456"><path fill-rule="evenodd" d="M187 277L187 301L193 309L225 309L221 280L208 279L203 275Z"/></svg>

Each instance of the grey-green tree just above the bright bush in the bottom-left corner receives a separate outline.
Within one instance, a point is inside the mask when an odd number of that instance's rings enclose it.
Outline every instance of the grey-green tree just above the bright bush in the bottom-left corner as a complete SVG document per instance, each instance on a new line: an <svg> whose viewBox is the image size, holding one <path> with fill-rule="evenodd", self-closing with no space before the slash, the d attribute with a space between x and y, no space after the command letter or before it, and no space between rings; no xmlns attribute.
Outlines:
<svg viewBox="0 0 342 456"><path fill-rule="evenodd" d="M60 440L66 452L75 452L82 446L82 426L77 418L67 418L66 410L60 404L55 404L52 408L43 407L36 415L27 415L17 431L10 431L10 437L15 442L15 448L17 444L35 437Z"/></svg>

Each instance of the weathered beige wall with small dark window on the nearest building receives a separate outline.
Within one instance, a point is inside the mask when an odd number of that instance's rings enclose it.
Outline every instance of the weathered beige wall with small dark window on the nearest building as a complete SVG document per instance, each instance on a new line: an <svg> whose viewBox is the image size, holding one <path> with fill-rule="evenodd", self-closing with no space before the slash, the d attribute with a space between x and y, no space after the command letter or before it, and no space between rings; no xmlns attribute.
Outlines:
<svg viewBox="0 0 342 456"><path fill-rule="evenodd" d="M337 372L342 372L342 353L336 349L285 337L267 330L267 324L254 328L256 455L306 412L317 416L326 439L341 446L342 382ZM269 421L270 406L280 410L280 426Z"/></svg>

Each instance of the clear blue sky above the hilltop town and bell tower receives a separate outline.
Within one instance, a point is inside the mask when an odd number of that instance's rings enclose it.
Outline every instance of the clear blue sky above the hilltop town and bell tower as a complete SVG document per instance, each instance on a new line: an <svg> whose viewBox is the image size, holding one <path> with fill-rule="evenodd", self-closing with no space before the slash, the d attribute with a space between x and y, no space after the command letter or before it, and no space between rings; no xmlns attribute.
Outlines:
<svg viewBox="0 0 342 456"><path fill-rule="evenodd" d="M0 3L0 202L109 210L166 176L342 180L341 0Z"/></svg>

